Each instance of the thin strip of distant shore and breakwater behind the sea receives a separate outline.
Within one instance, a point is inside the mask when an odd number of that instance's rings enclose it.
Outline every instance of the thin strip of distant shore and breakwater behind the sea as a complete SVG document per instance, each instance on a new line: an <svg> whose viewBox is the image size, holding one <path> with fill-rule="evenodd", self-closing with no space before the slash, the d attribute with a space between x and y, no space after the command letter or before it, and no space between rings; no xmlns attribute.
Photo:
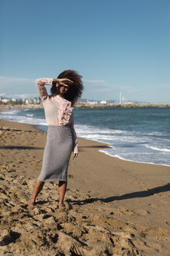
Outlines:
<svg viewBox="0 0 170 256"><path fill-rule="evenodd" d="M42 104L28 104L28 105L0 105L2 109L13 108L43 108ZM78 102L75 104L75 108L170 108L170 103L122 103L122 104L88 104L84 102Z"/></svg>

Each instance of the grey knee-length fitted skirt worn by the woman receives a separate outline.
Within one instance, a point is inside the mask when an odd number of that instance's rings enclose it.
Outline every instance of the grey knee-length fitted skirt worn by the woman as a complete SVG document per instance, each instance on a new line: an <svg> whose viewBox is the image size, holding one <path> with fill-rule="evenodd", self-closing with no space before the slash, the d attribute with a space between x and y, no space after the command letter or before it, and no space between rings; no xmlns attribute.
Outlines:
<svg viewBox="0 0 170 256"><path fill-rule="evenodd" d="M73 148L71 125L48 126L47 142L43 152L43 165L37 180L68 179L68 163Z"/></svg>

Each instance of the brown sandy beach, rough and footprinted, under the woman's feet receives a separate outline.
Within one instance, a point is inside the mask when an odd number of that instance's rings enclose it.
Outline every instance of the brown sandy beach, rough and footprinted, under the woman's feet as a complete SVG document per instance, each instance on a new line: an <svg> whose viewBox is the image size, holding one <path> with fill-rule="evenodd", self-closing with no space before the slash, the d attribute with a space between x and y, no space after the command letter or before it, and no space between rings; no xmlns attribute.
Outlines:
<svg viewBox="0 0 170 256"><path fill-rule="evenodd" d="M0 136L0 255L169 255L168 166L122 161L99 152L105 144L78 138L65 212L57 182L45 183L28 209L46 133L0 120Z"/></svg>

